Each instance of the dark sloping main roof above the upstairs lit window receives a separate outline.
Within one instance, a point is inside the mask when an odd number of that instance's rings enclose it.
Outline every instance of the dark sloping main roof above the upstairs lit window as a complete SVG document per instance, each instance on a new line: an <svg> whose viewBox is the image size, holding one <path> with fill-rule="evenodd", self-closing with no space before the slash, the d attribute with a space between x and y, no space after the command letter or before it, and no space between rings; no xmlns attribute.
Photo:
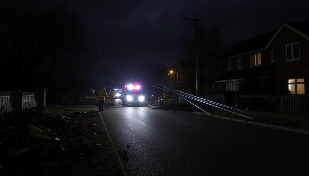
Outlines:
<svg viewBox="0 0 309 176"><path fill-rule="evenodd" d="M231 48L229 48L223 58L231 57L234 55L239 55L242 53L259 50L265 48L267 43L272 39L276 31L267 32L262 35L258 35L251 39L243 40L241 42L235 43Z"/></svg>

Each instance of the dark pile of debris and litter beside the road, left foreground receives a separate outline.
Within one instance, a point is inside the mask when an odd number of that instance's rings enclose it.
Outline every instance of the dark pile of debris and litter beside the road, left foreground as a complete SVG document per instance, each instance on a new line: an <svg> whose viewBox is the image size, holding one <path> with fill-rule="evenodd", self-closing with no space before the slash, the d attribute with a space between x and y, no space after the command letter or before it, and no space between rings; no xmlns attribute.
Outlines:
<svg viewBox="0 0 309 176"><path fill-rule="evenodd" d="M0 175L70 175L91 169L103 142L93 140L95 124L85 121L94 116L57 114L45 107L0 114Z"/></svg>

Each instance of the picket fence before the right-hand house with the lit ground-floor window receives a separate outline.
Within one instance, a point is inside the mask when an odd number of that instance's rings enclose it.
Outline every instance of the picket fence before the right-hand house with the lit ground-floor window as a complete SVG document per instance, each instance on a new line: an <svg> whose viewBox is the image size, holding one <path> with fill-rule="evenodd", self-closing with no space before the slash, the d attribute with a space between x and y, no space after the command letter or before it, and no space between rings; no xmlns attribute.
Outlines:
<svg viewBox="0 0 309 176"><path fill-rule="evenodd" d="M243 103L236 102L242 100L247 102L249 106L253 98L262 100L256 102L263 103L272 112L308 114L308 104L304 104L305 101L303 101L306 99L304 95L233 95L233 103Z"/></svg>

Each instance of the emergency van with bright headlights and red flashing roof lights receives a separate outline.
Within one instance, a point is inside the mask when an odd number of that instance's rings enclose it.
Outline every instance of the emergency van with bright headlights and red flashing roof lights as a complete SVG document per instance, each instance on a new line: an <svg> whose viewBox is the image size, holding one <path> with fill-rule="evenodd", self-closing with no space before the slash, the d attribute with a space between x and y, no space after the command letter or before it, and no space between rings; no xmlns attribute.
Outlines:
<svg viewBox="0 0 309 176"><path fill-rule="evenodd" d="M142 86L135 82L134 84L125 84L122 91L122 105L136 104L143 105L145 100Z"/></svg>

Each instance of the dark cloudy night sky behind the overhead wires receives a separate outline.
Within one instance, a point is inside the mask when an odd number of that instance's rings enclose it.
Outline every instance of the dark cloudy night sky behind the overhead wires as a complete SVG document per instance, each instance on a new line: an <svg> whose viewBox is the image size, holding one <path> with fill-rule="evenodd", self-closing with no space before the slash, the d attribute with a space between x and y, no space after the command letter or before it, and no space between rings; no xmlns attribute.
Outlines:
<svg viewBox="0 0 309 176"><path fill-rule="evenodd" d="M99 57L100 0L40 1L42 8L46 9L57 4L65 5L82 19L80 25L84 26L82 33L87 51L68 55L91 63L89 78L99 85L107 81L124 84L132 80L133 65L136 80L147 82L148 76L154 73L152 69L156 69L154 65L170 67L180 60L181 35L192 27L184 16L205 16L211 7L222 3L204 18L205 26L211 27L249 2L251 0L104 0L102 27L123 31L102 29L102 34L109 35L101 37ZM33 5L33 1L22 3L25 7ZM308 20L308 6L307 0L255 0L218 23L222 47L228 48L235 42L275 30L283 21L298 23Z"/></svg>

